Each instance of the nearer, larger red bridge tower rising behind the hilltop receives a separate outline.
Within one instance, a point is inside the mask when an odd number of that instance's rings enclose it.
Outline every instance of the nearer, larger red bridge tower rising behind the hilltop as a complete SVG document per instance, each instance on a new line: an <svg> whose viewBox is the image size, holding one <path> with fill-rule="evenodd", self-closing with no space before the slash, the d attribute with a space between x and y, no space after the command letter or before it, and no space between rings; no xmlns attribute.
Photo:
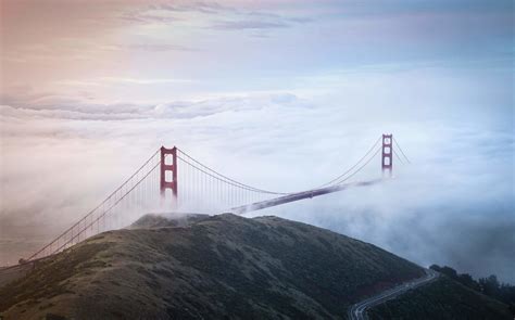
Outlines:
<svg viewBox="0 0 515 320"><path fill-rule="evenodd" d="M169 155L169 156L166 156ZM167 163L168 161L168 163ZM172 163L169 163L172 161ZM161 201L166 199L166 190L172 190L172 201L177 204L177 148L161 146L160 192Z"/></svg>

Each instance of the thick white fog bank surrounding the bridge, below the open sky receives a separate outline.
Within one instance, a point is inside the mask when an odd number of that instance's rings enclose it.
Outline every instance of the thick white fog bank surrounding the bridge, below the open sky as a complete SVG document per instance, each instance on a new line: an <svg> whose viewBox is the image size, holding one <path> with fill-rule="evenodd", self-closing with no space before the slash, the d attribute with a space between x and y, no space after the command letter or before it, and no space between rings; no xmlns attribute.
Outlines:
<svg viewBox="0 0 515 320"><path fill-rule="evenodd" d="M2 260L13 261L55 235L162 144L179 145L237 180L290 191L330 180L378 135L393 132L412 159L411 166L395 162L393 181L255 214L328 228L424 266L451 265L515 282L508 126L495 119L498 126L479 125L483 119L474 108L462 124L406 119L416 119L415 110L369 121L366 105L356 113L355 105L346 108L326 99L260 93L109 106L109 112L66 103L75 110L4 105ZM379 175L377 158L356 179Z"/></svg>

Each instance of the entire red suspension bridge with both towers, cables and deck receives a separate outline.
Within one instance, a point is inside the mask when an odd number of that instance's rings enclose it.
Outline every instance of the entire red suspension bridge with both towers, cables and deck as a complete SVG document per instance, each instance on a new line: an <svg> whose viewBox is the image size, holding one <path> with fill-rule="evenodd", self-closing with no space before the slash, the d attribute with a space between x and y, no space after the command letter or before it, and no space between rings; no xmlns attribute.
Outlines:
<svg viewBox="0 0 515 320"><path fill-rule="evenodd" d="M378 155L381 177L350 182ZM382 135L352 167L327 183L299 192L278 192L236 181L176 146L162 146L100 204L25 261L53 255L100 232L127 227L127 215L138 217L142 213L181 208L197 213L244 214L348 188L375 184L392 176L393 156L402 164L410 163L393 136Z"/></svg>

